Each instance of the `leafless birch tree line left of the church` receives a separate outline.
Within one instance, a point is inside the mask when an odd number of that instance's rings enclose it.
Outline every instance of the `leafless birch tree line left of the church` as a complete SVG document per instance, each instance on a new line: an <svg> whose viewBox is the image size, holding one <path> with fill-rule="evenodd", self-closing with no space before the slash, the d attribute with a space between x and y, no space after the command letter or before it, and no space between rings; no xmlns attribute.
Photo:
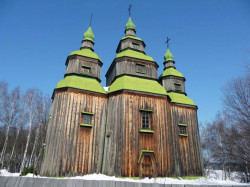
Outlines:
<svg viewBox="0 0 250 187"><path fill-rule="evenodd" d="M0 168L22 172L25 168L39 170L51 99L38 89L21 93L16 87L0 81Z"/></svg>

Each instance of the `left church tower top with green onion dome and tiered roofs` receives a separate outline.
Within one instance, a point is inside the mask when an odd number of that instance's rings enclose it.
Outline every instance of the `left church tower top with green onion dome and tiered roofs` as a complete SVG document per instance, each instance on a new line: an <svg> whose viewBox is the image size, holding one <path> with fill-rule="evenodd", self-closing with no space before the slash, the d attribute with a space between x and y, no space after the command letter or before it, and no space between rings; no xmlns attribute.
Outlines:
<svg viewBox="0 0 250 187"><path fill-rule="evenodd" d="M80 50L70 53L66 60L66 73L56 89L74 88L106 94L101 82L101 67L103 63L100 57L94 52L95 35L91 28L91 23L83 35Z"/></svg>

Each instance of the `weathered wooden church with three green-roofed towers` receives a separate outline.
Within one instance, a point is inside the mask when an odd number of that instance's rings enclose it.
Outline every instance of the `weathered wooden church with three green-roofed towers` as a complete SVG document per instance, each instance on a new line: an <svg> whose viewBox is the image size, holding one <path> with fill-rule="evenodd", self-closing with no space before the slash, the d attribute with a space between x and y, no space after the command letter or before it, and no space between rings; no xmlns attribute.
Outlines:
<svg viewBox="0 0 250 187"><path fill-rule="evenodd" d="M145 53L129 17L101 82L91 26L66 60L53 92L41 175L103 173L118 177L202 176L197 106L167 49L164 72Z"/></svg>

